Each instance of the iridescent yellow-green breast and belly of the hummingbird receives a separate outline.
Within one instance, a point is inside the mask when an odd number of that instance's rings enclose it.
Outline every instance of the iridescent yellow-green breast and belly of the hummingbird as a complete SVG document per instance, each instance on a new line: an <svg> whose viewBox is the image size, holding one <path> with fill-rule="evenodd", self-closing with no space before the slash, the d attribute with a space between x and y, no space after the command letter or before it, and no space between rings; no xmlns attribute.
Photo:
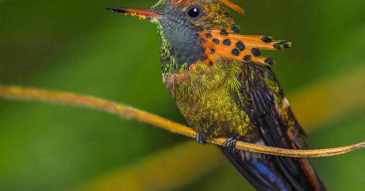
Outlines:
<svg viewBox="0 0 365 191"><path fill-rule="evenodd" d="M203 137L243 136L254 125L240 100L242 87L236 76L242 64L218 62L197 62L190 70L164 76L164 82L189 125Z"/></svg>

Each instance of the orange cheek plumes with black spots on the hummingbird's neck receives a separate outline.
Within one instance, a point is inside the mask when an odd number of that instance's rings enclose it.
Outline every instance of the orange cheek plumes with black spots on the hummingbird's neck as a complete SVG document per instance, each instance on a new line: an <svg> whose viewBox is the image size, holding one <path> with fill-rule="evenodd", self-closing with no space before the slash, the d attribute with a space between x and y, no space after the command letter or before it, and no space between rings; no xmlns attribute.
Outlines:
<svg viewBox="0 0 365 191"><path fill-rule="evenodd" d="M214 65L217 59L233 59L238 62L254 62L273 66L273 58L262 57L261 50L283 50L292 46L292 42L273 41L272 36L239 35L236 26L222 30L204 30L200 33L200 45L204 47L203 62Z"/></svg>

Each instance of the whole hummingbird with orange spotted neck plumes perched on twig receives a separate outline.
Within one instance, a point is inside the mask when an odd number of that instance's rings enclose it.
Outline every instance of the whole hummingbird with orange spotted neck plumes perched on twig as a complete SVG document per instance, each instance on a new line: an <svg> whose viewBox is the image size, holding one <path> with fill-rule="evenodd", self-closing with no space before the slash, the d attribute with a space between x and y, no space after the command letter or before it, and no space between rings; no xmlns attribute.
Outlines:
<svg viewBox="0 0 365 191"><path fill-rule="evenodd" d="M283 50L289 40L241 35L228 0L159 0L150 9L111 7L157 25L163 81L197 142L226 138L220 148L257 190L326 190L306 158L253 153L237 141L285 149L306 147L302 127L262 50Z"/></svg>

